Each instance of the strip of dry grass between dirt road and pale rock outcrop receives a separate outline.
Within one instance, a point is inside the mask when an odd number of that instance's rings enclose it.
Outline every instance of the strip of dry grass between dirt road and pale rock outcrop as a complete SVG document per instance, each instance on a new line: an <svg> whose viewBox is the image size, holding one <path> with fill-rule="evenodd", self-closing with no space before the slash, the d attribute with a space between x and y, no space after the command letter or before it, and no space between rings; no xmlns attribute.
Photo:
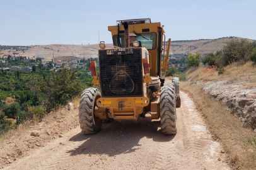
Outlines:
<svg viewBox="0 0 256 170"><path fill-rule="evenodd" d="M256 167L256 133L242 128L241 122L233 116L228 108L209 98L197 85L181 82L183 91L189 93L197 109L205 117L208 129L223 144L230 155L233 169L255 169Z"/></svg>

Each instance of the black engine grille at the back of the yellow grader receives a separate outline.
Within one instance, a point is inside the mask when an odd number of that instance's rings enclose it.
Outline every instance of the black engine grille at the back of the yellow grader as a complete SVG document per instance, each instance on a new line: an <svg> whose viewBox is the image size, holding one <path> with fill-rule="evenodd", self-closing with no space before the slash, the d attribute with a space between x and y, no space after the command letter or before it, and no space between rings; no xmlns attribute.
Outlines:
<svg viewBox="0 0 256 170"><path fill-rule="evenodd" d="M133 54L107 55L99 52L102 97L143 96L141 50Z"/></svg>

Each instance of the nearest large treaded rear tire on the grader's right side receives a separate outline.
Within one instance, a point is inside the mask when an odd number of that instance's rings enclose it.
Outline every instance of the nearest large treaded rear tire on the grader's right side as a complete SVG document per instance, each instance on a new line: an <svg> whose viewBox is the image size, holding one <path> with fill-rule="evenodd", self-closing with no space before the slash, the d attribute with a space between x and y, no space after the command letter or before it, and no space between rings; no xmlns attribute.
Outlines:
<svg viewBox="0 0 256 170"><path fill-rule="evenodd" d="M176 128L176 99L173 83L166 83L160 93L161 130L165 135L174 135Z"/></svg>

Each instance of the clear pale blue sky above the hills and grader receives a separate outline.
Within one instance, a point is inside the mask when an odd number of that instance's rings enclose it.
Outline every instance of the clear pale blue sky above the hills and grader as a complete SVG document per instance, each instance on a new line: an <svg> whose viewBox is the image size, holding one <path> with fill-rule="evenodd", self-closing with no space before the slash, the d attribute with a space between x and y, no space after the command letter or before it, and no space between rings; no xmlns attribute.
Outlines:
<svg viewBox="0 0 256 170"><path fill-rule="evenodd" d="M0 0L0 45L112 43L117 20L151 18L166 38L256 40L255 0Z"/></svg>

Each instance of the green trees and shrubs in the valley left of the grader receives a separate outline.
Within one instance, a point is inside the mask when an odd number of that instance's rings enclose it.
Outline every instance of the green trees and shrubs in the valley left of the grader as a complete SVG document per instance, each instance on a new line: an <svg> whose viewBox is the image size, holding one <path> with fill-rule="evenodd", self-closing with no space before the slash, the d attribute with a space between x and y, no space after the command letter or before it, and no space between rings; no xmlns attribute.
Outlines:
<svg viewBox="0 0 256 170"><path fill-rule="evenodd" d="M9 64L26 65L22 60L9 61ZM43 66L38 61L37 66L32 66L32 72L0 70L0 135L21 123L42 119L92 86L88 70L55 72L50 71L50 66L52 64Z"/></svg>

